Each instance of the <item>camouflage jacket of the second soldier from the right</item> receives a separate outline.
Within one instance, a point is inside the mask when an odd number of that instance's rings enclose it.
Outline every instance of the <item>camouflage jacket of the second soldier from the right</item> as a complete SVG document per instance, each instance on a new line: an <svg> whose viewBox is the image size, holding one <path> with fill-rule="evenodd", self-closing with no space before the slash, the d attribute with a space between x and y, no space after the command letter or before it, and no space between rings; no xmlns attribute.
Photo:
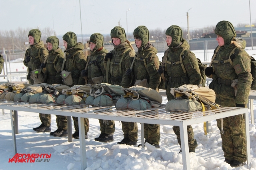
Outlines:
<svg viewBox="0 0 256 170"><path fill-rule="evenodd" d="M187 50L184 51L182 62L186 69L186 73L184 73L181 64L167 64L166 71L164 71L164 76L166 77L166 94L168 100L174 98L172 94L168 94L170 93L170 88L178 88L184 84L199 85L202 81L198 61L195 54L189 50L189 44L186 40L183 40L177 47L169 48L166 60L172 63L179 62L180 53L184 48L187 48ZM172 80L177 78L180 80L180 82L170 82L169 77L171 77Z"/></svg>

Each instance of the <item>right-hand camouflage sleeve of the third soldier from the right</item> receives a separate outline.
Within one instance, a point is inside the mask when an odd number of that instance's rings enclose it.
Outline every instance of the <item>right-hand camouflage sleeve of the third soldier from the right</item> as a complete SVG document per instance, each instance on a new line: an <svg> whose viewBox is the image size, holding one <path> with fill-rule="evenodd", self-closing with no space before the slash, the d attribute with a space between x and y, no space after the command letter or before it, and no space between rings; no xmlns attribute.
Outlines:
<svg viewBox="0 0 256 170"><path fill-rule="evenodd" d="M160 75L157 73L159 68L159 59L156 54L152 54L147 64L147 71L149 75L149 88L156 90L160 84Z"/></svg>

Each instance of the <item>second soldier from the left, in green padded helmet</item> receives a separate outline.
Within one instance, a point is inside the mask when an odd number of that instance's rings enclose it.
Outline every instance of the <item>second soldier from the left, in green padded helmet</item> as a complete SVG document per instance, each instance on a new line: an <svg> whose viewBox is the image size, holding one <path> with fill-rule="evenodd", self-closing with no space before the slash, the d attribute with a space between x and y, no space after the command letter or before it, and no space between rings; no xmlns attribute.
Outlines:
<svg viewBox="0 0 256 170"><path fill-rule="evenodd" d="M62 84L60 76L61 66L64 60L64 53L59 47L59 39L56 36L50 36L46 40L48 58L46 63L42 63L40 68L45 68L44 82L47 84ZM44 71L44 70L43 70ZM56 123L58 129L50 132L52 136L68 136L67 118L66 116L56 115Z"/></svg>

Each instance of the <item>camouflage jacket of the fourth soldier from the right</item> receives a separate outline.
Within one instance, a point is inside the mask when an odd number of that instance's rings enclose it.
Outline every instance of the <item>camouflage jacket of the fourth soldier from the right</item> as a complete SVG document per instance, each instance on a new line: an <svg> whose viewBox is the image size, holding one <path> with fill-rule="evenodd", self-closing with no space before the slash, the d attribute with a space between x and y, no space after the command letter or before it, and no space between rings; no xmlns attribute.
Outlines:
<svg viewBox="0 0 256 170"><path fill-rule="evenodd" d="M124 42L114 48L114 50L111 51L113 54L113 57L110 62L110 68L108 72L108 83L109 84L116 84L120 85L124 88L128 88L132 84L132 77L127 76L125 74L126 70L130 68L132 64L132 60L134 58L135 52L134 50L130 49L125 53L125 56L121 62L121 70L119 71L119 62L122 57L122 53L126 48L130 48L130 45L127 42ZM107 62L104 60L104 68L107 68Z"/></svg>

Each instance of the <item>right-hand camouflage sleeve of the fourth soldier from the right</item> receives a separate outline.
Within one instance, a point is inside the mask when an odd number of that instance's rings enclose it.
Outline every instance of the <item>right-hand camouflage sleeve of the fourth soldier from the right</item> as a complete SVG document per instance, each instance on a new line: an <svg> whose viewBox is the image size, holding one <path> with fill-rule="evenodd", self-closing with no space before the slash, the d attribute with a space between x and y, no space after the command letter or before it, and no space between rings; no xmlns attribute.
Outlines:
<svg viewBox="0 0 256 170"><path fill-rule="evenodd" d="M120 84L124 88L130 87L132 84L132 77L127 76L125 72L132 65L132 60L134 56L135 56L134 50L130 50L129 52L126 53L126 55L124 56L124 59L122 60L122 66L124 66L124 68L122 68L122 82Z"/></svg>

